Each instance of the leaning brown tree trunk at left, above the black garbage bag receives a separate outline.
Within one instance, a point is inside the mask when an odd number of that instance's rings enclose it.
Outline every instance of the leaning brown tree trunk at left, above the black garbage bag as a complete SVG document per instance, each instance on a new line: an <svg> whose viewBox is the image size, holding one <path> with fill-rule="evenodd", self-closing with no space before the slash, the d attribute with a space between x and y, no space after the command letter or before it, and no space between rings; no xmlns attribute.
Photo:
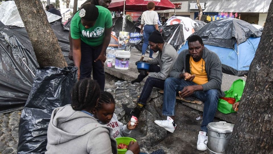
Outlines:
<svg viewBox="0 0 273 154"><path fill-rule="evenodd" d="M40 67L67 66L40 0L15 0Z"/></svg>

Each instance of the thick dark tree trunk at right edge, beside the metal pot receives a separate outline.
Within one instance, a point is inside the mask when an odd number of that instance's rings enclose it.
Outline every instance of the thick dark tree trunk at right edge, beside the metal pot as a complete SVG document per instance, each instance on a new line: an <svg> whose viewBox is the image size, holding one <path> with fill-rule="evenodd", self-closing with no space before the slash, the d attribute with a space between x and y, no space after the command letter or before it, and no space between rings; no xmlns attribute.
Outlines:
<svg viewBox="0 0 273 154"><path fill-rule="evenodd" d="M273 153L273 2L250 65L228 153Z"/></svg>

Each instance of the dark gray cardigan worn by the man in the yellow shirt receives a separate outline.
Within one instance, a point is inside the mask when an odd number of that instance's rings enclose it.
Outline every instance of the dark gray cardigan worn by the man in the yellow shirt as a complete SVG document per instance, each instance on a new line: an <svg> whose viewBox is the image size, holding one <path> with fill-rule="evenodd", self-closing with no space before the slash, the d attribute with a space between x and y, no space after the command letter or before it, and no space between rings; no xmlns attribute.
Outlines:
<svg viewBox="0 0 273 154"><path fill-rule="evenodd" d="M191 73L189 69L189 59L190 59L189 50L183 50L174 66L171 70L170 77L180 78L180 74L185 70L185 72ZM208 48L204 47L202 58L205 61L205 69L208 76L208 82L202 84L203 90L207 91L210 89L217 89L219 91L219 97L224 97L225 93L221 90L222 85L222 66L221 61L216 53L208 50Z"/></svg>

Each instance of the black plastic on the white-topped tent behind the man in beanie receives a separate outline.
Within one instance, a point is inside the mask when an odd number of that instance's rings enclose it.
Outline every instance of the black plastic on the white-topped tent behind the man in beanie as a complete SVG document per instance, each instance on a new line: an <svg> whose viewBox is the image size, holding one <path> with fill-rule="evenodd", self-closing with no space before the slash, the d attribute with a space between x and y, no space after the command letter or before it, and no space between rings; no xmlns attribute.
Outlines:
<svg viewBox="0 0 273 154"><path fill-rule="evenodd" d="M168 26L167 24L164 24L163 26L160 26L159 31L165 42L169 42L171 39L169 44L171 44L175 50L178 50L179 46L185 41L182 24ZM174 33L174 37L171 38Z"/></svg>

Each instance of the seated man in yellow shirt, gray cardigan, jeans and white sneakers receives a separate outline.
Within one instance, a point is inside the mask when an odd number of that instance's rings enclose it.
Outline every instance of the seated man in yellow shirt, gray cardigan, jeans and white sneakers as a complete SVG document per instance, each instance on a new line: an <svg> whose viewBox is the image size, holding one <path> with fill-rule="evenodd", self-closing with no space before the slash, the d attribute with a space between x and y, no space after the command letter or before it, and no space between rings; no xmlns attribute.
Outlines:
<svg viewBox="0 0 273 154"><path fill-rule="evenodd" d="M225 94L221 90L222 67L217 54L204 47L202 38L193 35L188 38L188 50L183 50L173 65L170 78L165 80L162 115L167 120L154 121L167 131L176 128L176 94L181 98L194 96L204 102L203 122L199 131L197 149L206 150L207 125L212 122L217 110L218 98ZM183 73L183 70L185 73Z"/></svg>

